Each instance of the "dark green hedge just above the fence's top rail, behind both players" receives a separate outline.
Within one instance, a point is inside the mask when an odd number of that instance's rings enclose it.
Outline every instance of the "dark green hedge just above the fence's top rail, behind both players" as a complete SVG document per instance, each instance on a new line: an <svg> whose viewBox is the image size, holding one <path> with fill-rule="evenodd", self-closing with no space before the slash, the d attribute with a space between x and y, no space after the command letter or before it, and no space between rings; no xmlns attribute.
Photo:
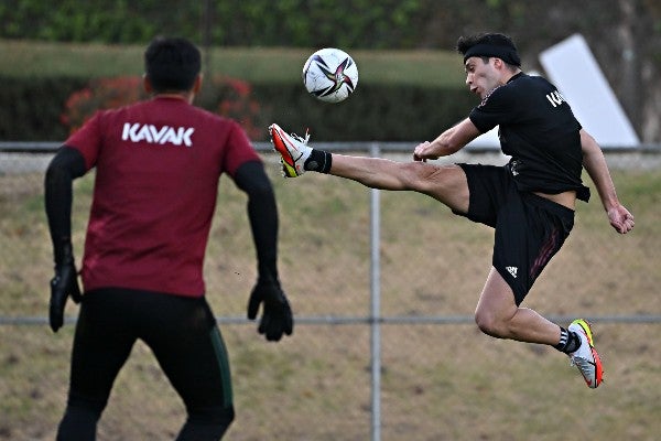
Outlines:
<svg viewBox="0 0 661 441"><path fill-rule="evenodd" d="M68 129L61 115L72 93L87 84L77 78L2 78L0 140L59 141ZM339 104L307 95L301 85L253 85L259 112L252 125L278 122L288 130L310 128L318 141L415 141L436 137L476 104L464 89L361 85ZM197 104L217 112L223 90L207 92ZM258 130L258 133L260 131Z"/></svg>

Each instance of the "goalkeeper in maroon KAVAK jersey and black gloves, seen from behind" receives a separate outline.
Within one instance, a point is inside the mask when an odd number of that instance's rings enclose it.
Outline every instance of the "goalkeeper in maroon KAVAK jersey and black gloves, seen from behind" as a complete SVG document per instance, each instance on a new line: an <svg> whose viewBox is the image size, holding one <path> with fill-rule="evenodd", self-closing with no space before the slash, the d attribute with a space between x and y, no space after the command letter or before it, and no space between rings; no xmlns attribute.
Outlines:
<svg viewBox="0 0 661 441"><path fill-rule="evenodd" d="M192 105L201 53L158 37L144 53L151 99L98 111L48 165L45 204L55 255L50 323L80 301L69 394L57 440L94 440L112 384L138 338L186 407L177 440L218 440L235 418L227 351L205 298L204 255L229 175L248 196L258 280L248 318L279 341L293 330L278 277L278 211L271 182L241 127ZM95 169L80 295L72 244L72 181Z"/></svg>

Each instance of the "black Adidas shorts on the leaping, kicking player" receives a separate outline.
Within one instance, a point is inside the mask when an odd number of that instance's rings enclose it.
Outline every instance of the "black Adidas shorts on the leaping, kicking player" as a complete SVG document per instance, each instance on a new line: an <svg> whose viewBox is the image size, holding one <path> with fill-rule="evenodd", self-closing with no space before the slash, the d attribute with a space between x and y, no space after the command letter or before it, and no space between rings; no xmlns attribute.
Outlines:
<svg viewBox="0 0 661 441"><path fill-rule="evenodd" d="M520 192L505 166L457 165L466 173L470 195L468 213L455 214L496 229L492 265L520 305L570 235L574 211Z"/></svg>

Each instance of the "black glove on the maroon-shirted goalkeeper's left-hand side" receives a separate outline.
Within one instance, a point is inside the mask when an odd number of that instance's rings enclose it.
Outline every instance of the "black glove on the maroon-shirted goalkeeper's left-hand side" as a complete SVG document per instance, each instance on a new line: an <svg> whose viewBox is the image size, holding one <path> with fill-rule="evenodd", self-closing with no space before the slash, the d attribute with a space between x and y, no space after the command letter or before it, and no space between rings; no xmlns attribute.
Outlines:
<svg viewBox="0 0 661 441"><path fill-rule="evenodd" d="M64 306L66 299L71 295L72 300L80 303L80 288L78 287L78 273L72 246L65 246L61 262L55 263L55 276L51 279L51 303L48 311L48 321L53 332L57 332L64 324Z"/></svg>

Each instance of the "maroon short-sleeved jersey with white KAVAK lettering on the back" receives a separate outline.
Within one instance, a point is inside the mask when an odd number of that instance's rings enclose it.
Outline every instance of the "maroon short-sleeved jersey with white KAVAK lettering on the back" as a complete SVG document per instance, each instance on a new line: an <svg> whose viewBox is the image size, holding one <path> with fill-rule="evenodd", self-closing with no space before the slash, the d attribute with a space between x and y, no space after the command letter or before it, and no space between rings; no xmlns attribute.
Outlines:
<svg viewBox="0 0 661 441"><path fill-rule="evenodd" d="M156 97L97 112L65 143L96 166L85 289L203 295L218 179L260 161L239 125Z"/></svg>

